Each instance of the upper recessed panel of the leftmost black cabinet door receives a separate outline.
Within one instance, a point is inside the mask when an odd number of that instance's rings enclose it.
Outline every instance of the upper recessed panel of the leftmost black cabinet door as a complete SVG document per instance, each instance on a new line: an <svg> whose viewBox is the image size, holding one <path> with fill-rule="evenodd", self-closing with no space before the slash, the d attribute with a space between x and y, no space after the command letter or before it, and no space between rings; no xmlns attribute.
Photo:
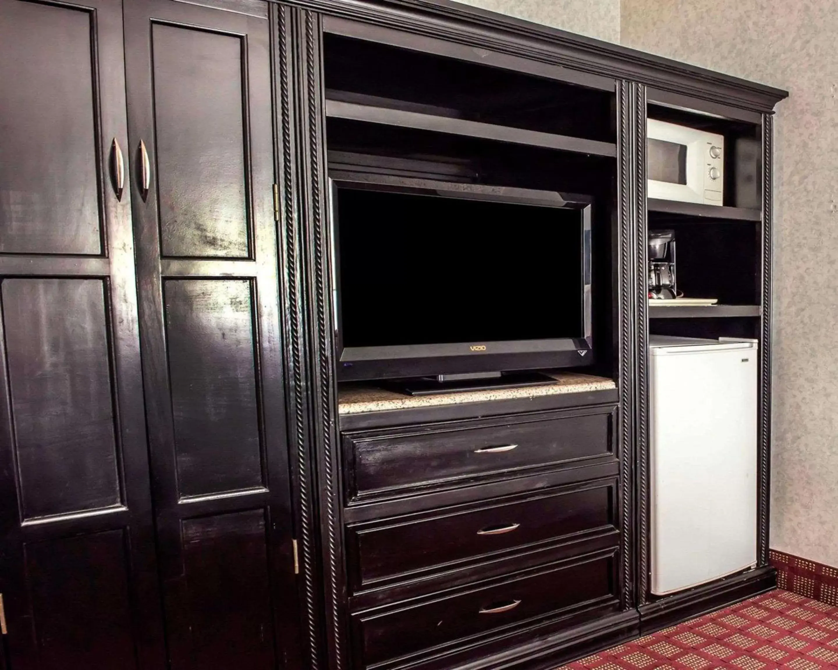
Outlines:
<svg viewBox="0 0 838 670"><path fill-rule="evenodd" d="M3 3L2 253L101 253L94 21L80 8Z"/></svg>

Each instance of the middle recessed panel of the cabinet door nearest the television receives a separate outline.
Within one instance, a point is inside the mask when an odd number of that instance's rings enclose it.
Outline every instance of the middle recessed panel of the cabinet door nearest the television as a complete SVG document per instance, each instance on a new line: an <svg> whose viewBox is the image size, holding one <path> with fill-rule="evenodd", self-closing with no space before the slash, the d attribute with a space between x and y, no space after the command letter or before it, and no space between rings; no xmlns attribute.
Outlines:
<svg viewBox="0 0 838 670"><path fill-rule="evenodd" d="M180 497L261 487L251 282L164 285Z"/></svg>

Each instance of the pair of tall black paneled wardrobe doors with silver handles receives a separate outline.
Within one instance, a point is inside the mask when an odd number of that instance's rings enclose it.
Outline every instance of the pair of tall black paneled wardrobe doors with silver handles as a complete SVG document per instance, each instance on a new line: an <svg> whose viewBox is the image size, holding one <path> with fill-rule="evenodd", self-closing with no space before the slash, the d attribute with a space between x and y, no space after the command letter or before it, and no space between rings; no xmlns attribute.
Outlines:
<svg viewBox="0 0 838 670"><path fill-rule="evenodd" d="M301 662L275 30L245 9L3 2L10 667Z"/></svg>

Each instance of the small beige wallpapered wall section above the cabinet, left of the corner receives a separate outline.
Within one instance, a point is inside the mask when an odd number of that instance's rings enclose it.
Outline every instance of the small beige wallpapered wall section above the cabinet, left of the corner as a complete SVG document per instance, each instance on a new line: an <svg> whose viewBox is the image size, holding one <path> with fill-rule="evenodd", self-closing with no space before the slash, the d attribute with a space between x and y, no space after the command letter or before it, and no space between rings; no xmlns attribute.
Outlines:
<svg viewBox="0 0 838 670"><path fill-rule="evenodd" d="M620 0L460 0L609 42L620 39Z"/></svg>

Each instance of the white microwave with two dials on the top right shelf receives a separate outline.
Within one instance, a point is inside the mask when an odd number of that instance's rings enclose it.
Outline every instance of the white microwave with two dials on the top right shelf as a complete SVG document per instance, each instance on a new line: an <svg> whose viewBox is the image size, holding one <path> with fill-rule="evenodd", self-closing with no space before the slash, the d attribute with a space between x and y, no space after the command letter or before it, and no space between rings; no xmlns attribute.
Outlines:
<svg viewBox="0 0 838 670"><path fill-rule="evenodd" d="M725 138L649 119L646 126L649 198L721 205Z"/></svg>

